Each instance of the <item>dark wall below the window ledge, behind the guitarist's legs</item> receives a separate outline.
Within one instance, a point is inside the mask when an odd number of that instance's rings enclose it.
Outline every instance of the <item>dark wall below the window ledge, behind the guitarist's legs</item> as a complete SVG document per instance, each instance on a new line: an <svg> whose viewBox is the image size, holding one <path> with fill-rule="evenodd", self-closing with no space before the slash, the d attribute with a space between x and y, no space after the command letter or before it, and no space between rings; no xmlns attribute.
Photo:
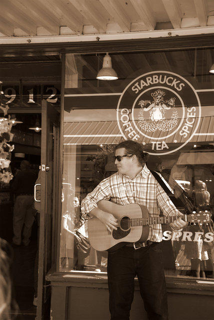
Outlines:
<svg viewBox="0 0 214 320"><path fill-rule="evenodd" d="M68 286L65 291L66 287L52 286L51 312L54 320L110 319L107 285L85 287L81 283L77 286ZM214 295L200 294L200 292L168 292L168 305L169 320L213 320L214 318ZM135 290L130 320L147 320L139 288Z"/></svg>

